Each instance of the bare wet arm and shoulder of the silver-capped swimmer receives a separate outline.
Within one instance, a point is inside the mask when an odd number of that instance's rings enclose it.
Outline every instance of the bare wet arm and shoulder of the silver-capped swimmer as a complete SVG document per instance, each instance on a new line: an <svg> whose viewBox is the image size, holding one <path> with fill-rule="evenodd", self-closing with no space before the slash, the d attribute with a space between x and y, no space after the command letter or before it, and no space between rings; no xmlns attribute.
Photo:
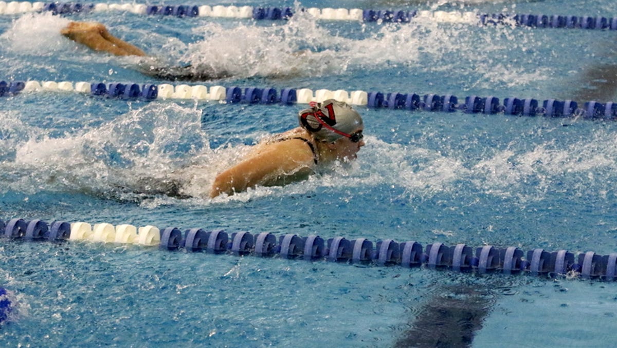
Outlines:
<svg viewBox="0 0 617 348"><path fill-rule="evenodd" d="M218 174L210 190L210 197L221 193L233 195L255 185L268 185L302 168L312 168L313 153L299 139L271 144L269 148L251 156Z"/></svg>

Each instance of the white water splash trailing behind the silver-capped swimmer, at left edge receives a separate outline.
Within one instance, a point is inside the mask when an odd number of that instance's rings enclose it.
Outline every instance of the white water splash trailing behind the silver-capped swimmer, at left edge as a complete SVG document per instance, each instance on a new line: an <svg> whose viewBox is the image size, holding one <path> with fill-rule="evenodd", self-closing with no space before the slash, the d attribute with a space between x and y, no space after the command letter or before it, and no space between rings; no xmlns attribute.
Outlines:
<svg viewBox="0 0 617 348"><path fill-rule="evenodd" d="M62 137L25 127L19 115L0 115L2 184L17 192L118 193L138 187L143 178L164 179L197 153L209 152L199 114L173 103L151 103Z"/></svg>

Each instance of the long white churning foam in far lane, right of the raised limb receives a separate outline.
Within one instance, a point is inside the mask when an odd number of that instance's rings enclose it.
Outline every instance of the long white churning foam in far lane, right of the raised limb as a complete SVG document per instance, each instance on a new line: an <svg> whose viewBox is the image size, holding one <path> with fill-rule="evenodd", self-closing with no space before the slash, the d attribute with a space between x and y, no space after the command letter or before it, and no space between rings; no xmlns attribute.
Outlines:
<svg viewBox="0 0 617 348"><path fill-rule="evenodd" d="M302 12L285 25L241 23L230 30L207 23L195 29L204 39L189 43L179 59L240 78L319 77L384 67L407 75L422 68L460 81L465 90L538 83L553 71L550 64L537 66L547 59L542 53L528 52L531 42L537 41L535 34L511 26L479 30L471 23L442 24L422 17L404 25L342 26L349 30L327 28ZM511 56L523 61L499 62Z"/></svg>

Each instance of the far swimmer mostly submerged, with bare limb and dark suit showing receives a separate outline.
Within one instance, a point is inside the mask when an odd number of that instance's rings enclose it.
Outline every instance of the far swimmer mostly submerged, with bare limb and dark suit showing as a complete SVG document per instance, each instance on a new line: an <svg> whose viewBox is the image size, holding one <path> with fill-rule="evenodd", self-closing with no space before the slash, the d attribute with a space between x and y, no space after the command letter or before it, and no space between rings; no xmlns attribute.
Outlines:
<svg viewBox="0 0 617 348"><path fill-rule="evenodd" d="M107 52L118 56L144 57L138 70L144 75L171 81L207 81L226 78L225 71L215 71L212 67L164 67L155 57L151 57L138 47L110 34L105 25L96 22L70 22L60 30L60 34L93 51Z"/></svg>

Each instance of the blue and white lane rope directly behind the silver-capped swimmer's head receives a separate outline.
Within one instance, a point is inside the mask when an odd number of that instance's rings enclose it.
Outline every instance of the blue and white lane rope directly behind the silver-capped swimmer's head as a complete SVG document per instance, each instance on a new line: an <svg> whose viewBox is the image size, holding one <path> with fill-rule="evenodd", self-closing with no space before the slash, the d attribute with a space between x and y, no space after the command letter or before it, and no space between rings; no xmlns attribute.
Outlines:
<svg viewBox="0 0 617 348"><path fill-rule="evenodd" d="M537 100L533 98L508 97L500 100L490 95L468 95L462 99L452 94L386 93L366 91L330 91L329 89L293 89L277 91L271 87L223 87L189 86L179 84L138 84L138 83L88 83L68 81L0 81L0 97L35 91L81 92L93 96L115 99L193 99L226 103L284 103L306 104L336 99L350 105L368 108L402 110L424 110L450 113L503 113L513 116L582 117L586 119L617 119L617 103L589 101L579 104L574 100Z"/></svg>

